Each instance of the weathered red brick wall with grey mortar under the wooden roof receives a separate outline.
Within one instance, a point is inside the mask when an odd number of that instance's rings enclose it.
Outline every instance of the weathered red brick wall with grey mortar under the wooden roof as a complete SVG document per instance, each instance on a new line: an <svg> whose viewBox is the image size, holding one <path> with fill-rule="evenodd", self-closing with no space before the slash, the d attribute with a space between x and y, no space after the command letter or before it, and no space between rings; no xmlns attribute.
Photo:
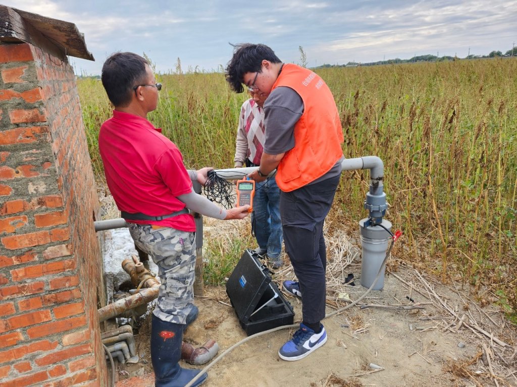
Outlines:
<svg viewBox="0 0 517 387"><path fill-rule="evenodd" d="M68 63L0 44L0 380L104 386L99 212Z"/></svg>

